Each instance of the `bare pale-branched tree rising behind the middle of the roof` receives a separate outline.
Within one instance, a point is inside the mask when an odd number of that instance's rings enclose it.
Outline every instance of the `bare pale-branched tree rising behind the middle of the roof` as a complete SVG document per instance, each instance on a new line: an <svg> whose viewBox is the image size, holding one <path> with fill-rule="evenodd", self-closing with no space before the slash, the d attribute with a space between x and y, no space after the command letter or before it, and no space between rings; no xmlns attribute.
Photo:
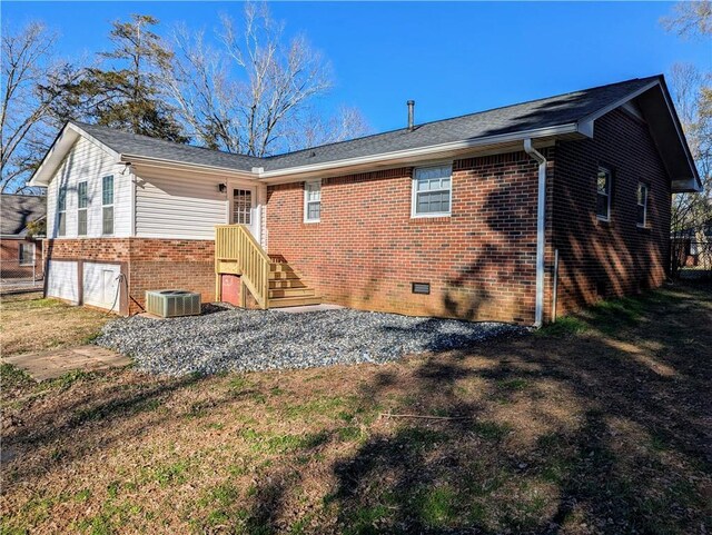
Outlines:
<svg viewBox="0 0 712 535"><path fill-rule="evenodd" d="M219 47L185 27L174 41L167 90L206 147L268 156L365 131L355 110L330 119L314 112L314 101L332 87L329 66L304 36L286 42L284 24L266 4L247 3L241 26L221 17Z"/></svg>

